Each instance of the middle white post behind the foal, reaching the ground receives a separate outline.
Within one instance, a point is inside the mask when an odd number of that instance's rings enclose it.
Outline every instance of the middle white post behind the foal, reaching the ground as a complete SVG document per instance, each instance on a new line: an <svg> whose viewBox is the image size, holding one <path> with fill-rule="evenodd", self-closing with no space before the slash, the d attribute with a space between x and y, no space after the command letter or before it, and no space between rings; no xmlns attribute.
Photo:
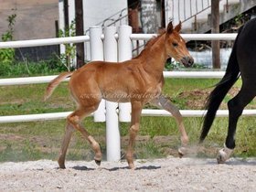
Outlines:
<svg viewBox="0 0 256 192"><path fill-rule="evenodd" d="M104 58L105 61L117 61L117 42L114 37L116 27L104 28ZM112 74L110 74L111 76ZM111 78L111 77L110 77ZM118 104L106 101L106 145L107 161L119 161L121 159L120 132L118 114L116 109Z"/></svg>

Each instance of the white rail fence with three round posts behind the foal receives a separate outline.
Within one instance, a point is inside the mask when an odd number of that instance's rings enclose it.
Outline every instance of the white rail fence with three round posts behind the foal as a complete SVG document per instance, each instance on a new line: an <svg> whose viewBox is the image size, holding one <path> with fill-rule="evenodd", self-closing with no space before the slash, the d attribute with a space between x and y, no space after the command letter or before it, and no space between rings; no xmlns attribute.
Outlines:
<svg viewBox="0 0 256 192"><path fill-rule="evenodd" d="M63 43L91 43L91 60L108 60L108 61L123 61L132 58L131 40L147 40L154 34L132 34L132 28L128 26L106 27L102 33L101 27L91 27L91 36L82 37L61 37L48 38L26 41L0 42L0 48L21 48L44 45L57 45ZM182 35L187 40L234 40L237 34L184 34ZM118 38L118 41L116 39ZM164 72L165 78L221 78L224 72L213 71L187 71L187 72ZM47 83L53 80L56 76L45 77L30 77L30 78L13 78L0 80L0 86L21 85L34 83ZM42 96L43 97L43 96ZM120 159L120 134L118 122L130 121L130 103L119 104L117 111L117 103L109 101L101 101L101 105L97 112L94 112L95 122L106 122L107 129L107 160L117 161ZM17 122L32 122L64 119L70 112L55 112L43 114L27 114L0 116L0 123L17 123ZM201 117L205 111L181 110L185 117ZM243 115L255 115L256 110L246 110ZM169 112L164 110L143 110L143 116L171 116ZM228 111L218 111L218 116L227 116Z"/></svg>

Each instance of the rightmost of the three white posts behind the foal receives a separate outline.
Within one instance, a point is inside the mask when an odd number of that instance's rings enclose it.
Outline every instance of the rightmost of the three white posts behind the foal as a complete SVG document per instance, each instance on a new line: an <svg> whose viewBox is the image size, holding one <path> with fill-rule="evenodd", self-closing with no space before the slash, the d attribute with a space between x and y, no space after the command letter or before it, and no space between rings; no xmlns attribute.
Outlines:
<svg viewBox="0 0 256 192"><path fill-rule="evenodd" d="M120 26L118 30L118 61L132 59L132 27ZM131 122L131 103L119 103L119 121Z"/></svg>

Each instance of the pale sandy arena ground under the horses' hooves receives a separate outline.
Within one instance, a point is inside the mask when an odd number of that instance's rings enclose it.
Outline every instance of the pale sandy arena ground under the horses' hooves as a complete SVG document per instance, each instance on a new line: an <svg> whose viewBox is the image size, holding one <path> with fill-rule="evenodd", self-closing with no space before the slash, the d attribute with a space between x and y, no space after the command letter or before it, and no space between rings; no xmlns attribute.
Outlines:
<svg viewBox="0 0 256 192"><path fill-rule="evenodd" d="M126 162L56 161L1 163L0 191L255 191L256 159L174 158Z"/></svg>

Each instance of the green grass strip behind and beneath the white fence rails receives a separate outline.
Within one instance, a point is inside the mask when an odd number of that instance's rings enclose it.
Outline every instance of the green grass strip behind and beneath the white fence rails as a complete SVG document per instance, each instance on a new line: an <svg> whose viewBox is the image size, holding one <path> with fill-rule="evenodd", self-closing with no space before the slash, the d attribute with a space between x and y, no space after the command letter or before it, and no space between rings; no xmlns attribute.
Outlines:
<svg viewBox="0 0 256 192"><path fill-rule="evenodd" d="M195 96L183 97L181 93L204 91L219 80L166 79L164 93L170 97L180 109L190 109L187 101L203 102ZM240 81L236 83L240 87ZM61 83L48 101L43 101L47 84L2 86L0 87L0 115L67 112L75 109L69 97L67 83ZM210 90L210 89L208 89ZM227 102L228 95L224 102ZM255 101L249 108L253 108ZM197 107L197 106L196 106ZM193 109L196 109L193 107ZM200 108L200 107L197 107ZM225 105L224 105L225 108ZM94 123L92 117L83 122L85 127L101 144L105 153L105 123ZM184 118L190 145L197 144L202 118ZM255 118L242 117L237 130L237 148L235 155L255 156ZM217 118L208 134L205 151L200 155L214 156L217 148L224 143L228 126L228 118ZM65 120L33 123L1 123L0 124L0 161L27 161L41 158L56 159L64 134ZM129 123L120 123L122 149L126 150ZM155 158L165 155L177 155L180 145L179 133L174 118L142 117L141 128L136 143L137 158ZM69 145L67 159L92 160L91 147L75 133Z"/></svg>

